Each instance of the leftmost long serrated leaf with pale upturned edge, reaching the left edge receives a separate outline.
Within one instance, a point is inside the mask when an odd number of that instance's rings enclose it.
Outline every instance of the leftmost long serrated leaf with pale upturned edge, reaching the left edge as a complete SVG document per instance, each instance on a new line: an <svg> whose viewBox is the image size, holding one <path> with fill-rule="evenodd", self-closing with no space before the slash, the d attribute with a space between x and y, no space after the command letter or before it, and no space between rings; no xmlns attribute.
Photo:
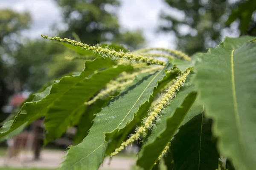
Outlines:
<svg viewBox="0 0 256 170"><path fill-rule="evenodd" d="M91 75L95 70L103 66L112 66L114 64L110 59L96 58L94 61L87 61L85 63L86 69L81 72L83 78ZM49 107L58 100L65 92L67 92L74 85L79 83L78 76L63 77L60 81L56 81L52 86L48 86L43 92L35 93L32 101L26 102L21 107L12 124L9 124L8 130L0 133L0 137L12 132L26 122L33 122L38 118L44 116ZM71 80L71 81L70 81ZM75 81L76 80L76 81ZM72 82L71 84L66 84ZM51 92L51 94L50 94Z"/></svg>

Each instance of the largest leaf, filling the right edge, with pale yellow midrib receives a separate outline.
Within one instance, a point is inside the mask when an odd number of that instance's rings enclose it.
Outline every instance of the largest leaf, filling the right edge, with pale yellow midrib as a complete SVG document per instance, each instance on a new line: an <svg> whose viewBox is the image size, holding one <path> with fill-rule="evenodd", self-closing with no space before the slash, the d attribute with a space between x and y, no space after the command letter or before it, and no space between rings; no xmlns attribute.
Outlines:
<svg viewBox="0 0 256 170"><path fill-rule="evenodd" d="M201 57L195 83L223 156L236 168L256 165L256 43L225 49L221 43Z"/></svg>

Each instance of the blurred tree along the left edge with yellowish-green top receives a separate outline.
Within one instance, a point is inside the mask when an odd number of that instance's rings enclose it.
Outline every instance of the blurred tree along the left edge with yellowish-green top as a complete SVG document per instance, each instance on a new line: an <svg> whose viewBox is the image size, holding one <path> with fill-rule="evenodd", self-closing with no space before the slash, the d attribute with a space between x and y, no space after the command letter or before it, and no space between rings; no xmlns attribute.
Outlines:
<svg viewBox="0 0 256 170"><path fill-rule="evenodd" d="M9 95L13 93L8 81L9 66L13 63L8 55L17 48L17 36L23 29L29 28L31 21L28 13L16 13L9 9L0 10L0 111L6 104Z"/></svg>

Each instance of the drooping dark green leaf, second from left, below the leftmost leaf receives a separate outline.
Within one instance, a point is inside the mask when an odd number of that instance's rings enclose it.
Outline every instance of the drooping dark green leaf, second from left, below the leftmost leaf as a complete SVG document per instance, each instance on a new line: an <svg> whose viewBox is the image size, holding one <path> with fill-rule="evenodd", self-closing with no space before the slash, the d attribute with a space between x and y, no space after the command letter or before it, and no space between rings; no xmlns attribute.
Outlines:
<svg viewBox="0 0 256 170"><path fill-rule="evenodd" d="M121 72L132 67L118 65L98 71L90 77L87 77L88 74L85 73L86 68L88 69L87 65L81 75L62 78L63 81L58 83L58 87L52 87L50 95L54 94L55 102L49 107L44 121L47 130L44 140L46 144L66 132L67 127L72 125L73 116L81 107L84 107L84 102ZM82 114L82 112L80 113ZM76 116L80 117L81 114Z"/></svg>

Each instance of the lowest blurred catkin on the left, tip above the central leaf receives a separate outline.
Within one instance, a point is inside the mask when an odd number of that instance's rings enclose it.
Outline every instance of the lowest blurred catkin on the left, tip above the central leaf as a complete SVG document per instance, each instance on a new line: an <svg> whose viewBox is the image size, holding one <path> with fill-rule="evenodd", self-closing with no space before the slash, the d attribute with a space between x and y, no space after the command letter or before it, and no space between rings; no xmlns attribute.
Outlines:
<svg viewBox="0 0 256 170"><path fill-rule="evenodd" d="M131 84L132 82L133 82L133 80L128 80L128 81L125 81L125 82L122 82L122 83L112 84L107 89L102 90L101 92L99 92L92 100L87 101L84 104L85 105L93 104L99 98L103 98L104 96L107 96L107 95L111 94L112 92L122 90L122 89L125 88L125 86L127 86L128 84Z"/></svg>

